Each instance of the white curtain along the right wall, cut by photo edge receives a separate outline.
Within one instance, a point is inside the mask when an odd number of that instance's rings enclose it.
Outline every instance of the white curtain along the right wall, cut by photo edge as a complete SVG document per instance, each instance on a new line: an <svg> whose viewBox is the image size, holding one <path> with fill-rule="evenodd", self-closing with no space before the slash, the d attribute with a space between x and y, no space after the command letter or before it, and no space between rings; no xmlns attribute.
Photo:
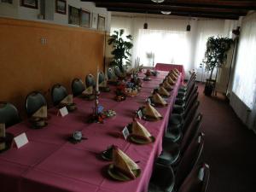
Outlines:
<svg viewBox="0 0 256 192"><path fill-rule="evenodd" d="M242 22L236 60L233 92L248 110L244 122L256 130L256 14L248 15ZM236 103L237 106L237 103ZM238 105L239 106L239 105ZM239 109L239 108L237 108ZM237 110L235 108L235 110Z"/></svg>

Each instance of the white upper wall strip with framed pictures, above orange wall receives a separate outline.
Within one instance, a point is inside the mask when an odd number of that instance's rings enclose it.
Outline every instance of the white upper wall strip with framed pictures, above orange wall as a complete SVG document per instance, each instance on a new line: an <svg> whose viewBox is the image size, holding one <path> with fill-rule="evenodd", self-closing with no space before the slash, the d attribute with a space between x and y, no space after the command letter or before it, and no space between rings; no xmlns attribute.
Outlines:
<svg viewBox="0 0 256 192"><path fill-rule="evenodd" d="M9 3L0 3L0 16L17 18L22 20L38 20L40 14L40 0L38 0L38 9L30 9L20 6L20 0L13 0L13 5ZM53 1L53 3L49 3ZM110 32L111 12L108 12L105 8L96 8L95 3L81 2L80 0L67 0L67 14L62 15L55 13L55 0L46 0L46 14L51 15L49 12L53 12L53 20L38 20L38 21L49 21L56 24L68 25L68 5L76 7L78 9L86 9L90 11L90 18L92 15L102 15L105 19L105 28L107 32ZM48 17L50 18L50 17ZM91 23L91 22L90 22Z"/></svg>

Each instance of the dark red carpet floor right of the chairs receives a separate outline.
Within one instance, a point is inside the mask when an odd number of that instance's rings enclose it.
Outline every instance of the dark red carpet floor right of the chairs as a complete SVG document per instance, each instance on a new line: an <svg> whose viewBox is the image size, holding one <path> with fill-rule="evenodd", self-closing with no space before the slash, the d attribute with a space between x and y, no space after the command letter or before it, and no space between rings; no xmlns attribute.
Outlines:
<svg viewBox="0 0 256 192"><path fill-rule="evenodd" d="M206 135L202 160L211 168L207 191L255 192L256 135L242 125L224 96L204 96L204 85L198 85Z"/></svg>

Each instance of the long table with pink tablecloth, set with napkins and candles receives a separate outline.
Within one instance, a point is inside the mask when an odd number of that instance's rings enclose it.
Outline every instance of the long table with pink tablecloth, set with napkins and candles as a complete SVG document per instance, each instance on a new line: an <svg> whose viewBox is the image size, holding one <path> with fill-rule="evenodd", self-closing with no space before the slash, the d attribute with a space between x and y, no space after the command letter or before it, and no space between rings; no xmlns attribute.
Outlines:
<svg viewBox="0 0 256 192"><path fill-rule="evenodd" d="M18 136L26 132L29 143L20 149L11 148L0 154L0 191L1 192L143 192L148 190L154 159L161 151L161 142L172 103L177 95L180 77L166 108L157 108L164 119L140 122L155 137L155 142L137 145L125 141L121 131L131 123L137 108L143 106L151 91L160 84L166 72L160 72L151 81L143 82L138 96L127 97L124 102L113 101L113 91L102 93L100 104L105 109L113 109L117 115L106 119L104 124L89 124L87 119L92 113L93 101L74 98L78 109L66 117L57 116L57 109L49 109L49 125L34 130L26 120L10 127L7 131ZM82 131L87 140L73 144L67 137L73 131ZM110 162L102 160L100 153L110 145L117 145L132 160L138 161L142 173L129 182L117 182L106 175Z"/></svg>

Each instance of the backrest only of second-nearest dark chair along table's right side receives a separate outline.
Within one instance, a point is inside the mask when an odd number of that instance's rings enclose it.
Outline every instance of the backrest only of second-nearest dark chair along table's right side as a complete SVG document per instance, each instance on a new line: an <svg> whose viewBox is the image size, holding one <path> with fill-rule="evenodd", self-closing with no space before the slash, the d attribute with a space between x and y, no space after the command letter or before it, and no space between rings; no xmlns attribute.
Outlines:
<svg viewBox="0 0 256 192"><path fill-rule="evenodd" d="M179 189L184 179L189 175L189 172L191 172L194 166L198 163L203 146L204 134L200 133L189 145L189 148L186 149L177 166L175 189Z"/></svg>

